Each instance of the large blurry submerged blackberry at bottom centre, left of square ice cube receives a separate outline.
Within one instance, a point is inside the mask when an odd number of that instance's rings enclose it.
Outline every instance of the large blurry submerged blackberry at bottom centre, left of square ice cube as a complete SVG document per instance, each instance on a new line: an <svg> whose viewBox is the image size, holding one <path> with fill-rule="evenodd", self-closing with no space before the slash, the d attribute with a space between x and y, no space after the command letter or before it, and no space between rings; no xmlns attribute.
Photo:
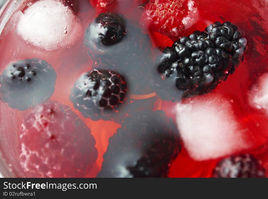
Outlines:
<svg viewBox="0 0 268 199"><path fill-rule="evenodd" d="M97 177L167 177L181 146L179 132L163 111L127 117L103 158Z"/></svg>

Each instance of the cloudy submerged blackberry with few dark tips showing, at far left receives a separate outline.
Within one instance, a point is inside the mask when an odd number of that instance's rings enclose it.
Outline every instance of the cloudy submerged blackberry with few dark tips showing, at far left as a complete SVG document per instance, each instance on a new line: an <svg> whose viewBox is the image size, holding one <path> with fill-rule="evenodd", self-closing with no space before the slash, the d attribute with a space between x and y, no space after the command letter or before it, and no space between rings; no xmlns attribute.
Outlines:
<svg viewBox="0 0 268 199"><path fill-rule="evenodd" d="M44 60L10 63L0 76L0 97L11 108L24 111L47 101L54 92L55 70Z"/></svg>

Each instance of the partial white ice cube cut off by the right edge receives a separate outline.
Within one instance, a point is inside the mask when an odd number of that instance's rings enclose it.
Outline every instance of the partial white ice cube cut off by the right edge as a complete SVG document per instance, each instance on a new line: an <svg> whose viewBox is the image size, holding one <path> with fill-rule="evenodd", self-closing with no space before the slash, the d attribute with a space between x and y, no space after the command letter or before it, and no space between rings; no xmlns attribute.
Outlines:
<svg viewBox="0 0 268 199"><path fill-rule="evenodd" d="M268 114L268 73L261 75L251 86L249 91L249 104Z"/></svg>

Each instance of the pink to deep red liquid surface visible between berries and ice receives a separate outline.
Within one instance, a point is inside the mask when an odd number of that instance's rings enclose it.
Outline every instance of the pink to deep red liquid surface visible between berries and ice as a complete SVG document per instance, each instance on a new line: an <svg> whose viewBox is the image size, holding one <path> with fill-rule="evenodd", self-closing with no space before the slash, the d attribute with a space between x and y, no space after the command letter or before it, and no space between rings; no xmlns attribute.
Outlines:
<svg viewBox="0 0 268 199"><path fill-rule="evenodd" d="M73 3L73 7L83 30L98 15L95 9L90 6L88 0L77 0ZM126 12L124 8L120 9L122 9L123 14ZM135 7L130 10L131 12L128 12L127 17L135 23L142 10ZM253 146L244 152L252 153L262 160L267 175L268 144L264 144L268 138L268 116L264 112L250 107L248 89L251 82L260 74L266 73L268 69L268 16L266 14L268 12L268 2L265 0L199 0L198 10L199 20L187 30L185 35L195 30L204 30L206 26L216 21L231 21L245 31L245 37L248 40L245 61L239 65L227 81L216 88L216 91L233 99L236 116L241 124L247 125L252 135L255 136ZM88 49L83 44L83 34L74 46L54 52L45 51L27 44L20 36L16 35L15 27L12 26L16 22L11 18L1 35L0 74L6 65L16 60L38 58L44 59L52 65L57 73L57 79L55 91L50 100L69 105L72 111L79 115L80 119L91 129L96 140L98 158L91 172L85 177L96 177L101 169L102 156L107 149L108 139L120 127L120 124L101 120L95 122L90 118L85 118L73 107L69 100L70 89L76 79L83 72L92 69L93 60L88 56ZM167 47L173 43L167 36L162 36L159 33L151 33L150 36L155 46ZM175 105L176 103L157 98L154 110L164 110L168 117L175 120L175 115L172 112ZM16 177L25 177L19 163L18 133L21 122L28 113L29 111L19 112L11 109L7 104L0 101L0 151ZM258 123L258 126L256 126L256 123ZM211 171L220 159L196 161L189 156L189 153L183 147L182 152L172 163L169 177L210 177Z"/></svg>

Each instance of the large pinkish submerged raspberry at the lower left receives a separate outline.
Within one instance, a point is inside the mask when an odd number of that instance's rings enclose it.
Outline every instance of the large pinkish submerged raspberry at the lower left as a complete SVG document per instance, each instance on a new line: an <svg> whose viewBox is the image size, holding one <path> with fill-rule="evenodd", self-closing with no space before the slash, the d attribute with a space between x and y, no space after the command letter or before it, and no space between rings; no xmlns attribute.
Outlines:
<svg viewBox="0 0 268 199"><path fill-rule="evenodd" d="M97 159L90 129L69 106L55 101L26 116L19 138L27 177L84 177Z"/></svg>

